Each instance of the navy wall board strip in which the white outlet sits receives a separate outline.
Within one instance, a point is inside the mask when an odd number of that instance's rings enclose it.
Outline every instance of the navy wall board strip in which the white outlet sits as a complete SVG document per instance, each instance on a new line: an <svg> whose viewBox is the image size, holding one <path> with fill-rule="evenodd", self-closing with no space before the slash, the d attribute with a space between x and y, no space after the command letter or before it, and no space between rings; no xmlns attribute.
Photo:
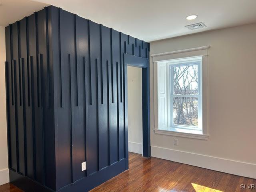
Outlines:
<svg viewBox="0 0 256 192"><path fill-rule="evenodd" d="M74 110L74 132L73 140L73 172L74 180L79 180L85 176L85 172L81 171L81 162L86 161L86 135L85 135L85 70L86 58L88 58L88 22L83 22L82 18L75 16L75 50L76 64L73 70L73 92L72 98Z"/></svg>

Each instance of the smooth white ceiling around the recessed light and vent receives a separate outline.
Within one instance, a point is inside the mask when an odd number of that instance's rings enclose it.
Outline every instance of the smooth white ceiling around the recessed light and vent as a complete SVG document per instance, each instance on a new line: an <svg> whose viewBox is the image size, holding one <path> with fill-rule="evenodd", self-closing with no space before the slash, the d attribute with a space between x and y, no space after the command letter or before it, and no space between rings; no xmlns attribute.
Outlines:
<svg viewBox="0 0 256 192"><path fill-rule="evenodd" d="M36 1L0 0L0 25L20 20L47 4L147 42L256 22L256 0ZM190 14L197 14L198 18L186 20ZM198 22L204 22L207 27L197 30L184 27Z"/></svg>

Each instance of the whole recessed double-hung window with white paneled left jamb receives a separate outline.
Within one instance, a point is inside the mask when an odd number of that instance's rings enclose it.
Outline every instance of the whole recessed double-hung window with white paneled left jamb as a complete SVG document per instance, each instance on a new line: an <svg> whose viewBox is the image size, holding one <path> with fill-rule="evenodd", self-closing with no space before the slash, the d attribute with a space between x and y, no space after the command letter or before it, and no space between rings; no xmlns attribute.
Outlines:
<svg viewBox="0 0 256 192"><path fill-rule="evenodd" d="M202 134L202 56L157 66L158 129Z"/></svg>

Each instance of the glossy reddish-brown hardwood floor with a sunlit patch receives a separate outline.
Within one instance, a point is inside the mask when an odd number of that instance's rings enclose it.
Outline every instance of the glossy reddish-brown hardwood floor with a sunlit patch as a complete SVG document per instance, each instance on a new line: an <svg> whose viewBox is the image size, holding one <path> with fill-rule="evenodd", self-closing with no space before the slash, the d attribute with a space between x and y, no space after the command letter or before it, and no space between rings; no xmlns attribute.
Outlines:
<svg viewBox="0 0 256 192"><path fill-rule="evenodd" d="M129 170L94 188L91 192L256 192L240 189L240 184L255 184L244 178L158 158L143 158L129 153ZM12 184L0 192L21 192Z"/></svg>

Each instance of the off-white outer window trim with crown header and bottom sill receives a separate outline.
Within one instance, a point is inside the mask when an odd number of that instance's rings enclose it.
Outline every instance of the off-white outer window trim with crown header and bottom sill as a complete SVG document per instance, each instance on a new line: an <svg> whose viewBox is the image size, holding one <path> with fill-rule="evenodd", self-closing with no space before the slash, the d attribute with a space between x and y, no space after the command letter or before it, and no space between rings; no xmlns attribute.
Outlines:
<svg viewBox="0 0 256 192"><path fill-rule="evenodd" d="M177 50L167 53L152 54L153 74L154 74L154 132L170 136L180 136L208 140L208 49L210 46ZM184 133L172 130L158 129L158 72L157 62L166 62L173 59L182 59L202 56L202 134ZM167 86L168 87L168 86ZM169 90L167 90L168 92ZM168 106L168 105L167 105ZM168 109L170 110L170 109Z"/></svg>

